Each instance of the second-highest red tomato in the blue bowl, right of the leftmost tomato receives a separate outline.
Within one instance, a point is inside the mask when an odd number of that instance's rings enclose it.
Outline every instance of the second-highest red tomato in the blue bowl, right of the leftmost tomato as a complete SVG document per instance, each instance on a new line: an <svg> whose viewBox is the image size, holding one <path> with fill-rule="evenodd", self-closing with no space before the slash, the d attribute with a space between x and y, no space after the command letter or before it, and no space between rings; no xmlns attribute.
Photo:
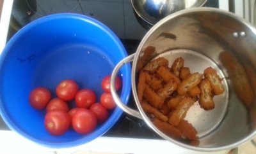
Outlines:
<svg viewBox="0 0 256 154"><path fill-rule="evenodd" d="M56 88L56 95L64 101L70 101L75 98L78 92L78 85L74 80L63 80Z"/></svg>

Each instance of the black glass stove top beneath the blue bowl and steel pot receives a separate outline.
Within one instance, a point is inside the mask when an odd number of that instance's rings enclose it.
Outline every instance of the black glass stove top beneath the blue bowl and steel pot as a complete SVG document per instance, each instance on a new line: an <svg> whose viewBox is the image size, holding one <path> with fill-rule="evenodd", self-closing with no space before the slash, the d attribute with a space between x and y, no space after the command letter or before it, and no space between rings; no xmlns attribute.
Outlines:
<svg viewBox="0 0 256 154"><path fill-rule="evenodd" d="M207 6L218 8L218 1L208 0ZM106 24L121 39L129 55L136 52L148 31L136 18L130 0L14 0L7 41L36 18L63 12L88 15ZM128 106L136 109L132 94ZM9 130L1 117L0 129ZM145 122L125 113L104 136L162 139Z"/></svg>

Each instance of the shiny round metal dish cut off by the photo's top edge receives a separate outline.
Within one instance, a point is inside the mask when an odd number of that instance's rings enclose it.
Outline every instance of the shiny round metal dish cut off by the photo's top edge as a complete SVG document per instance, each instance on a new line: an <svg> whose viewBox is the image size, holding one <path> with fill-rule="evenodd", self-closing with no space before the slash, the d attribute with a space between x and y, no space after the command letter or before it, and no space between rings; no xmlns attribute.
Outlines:
<svg viewBox="0 0 256 154"><path fill-rule="evenodd" d="M207 0L131 0L137 15L149 25L176 11L204 6Z"/></svg>

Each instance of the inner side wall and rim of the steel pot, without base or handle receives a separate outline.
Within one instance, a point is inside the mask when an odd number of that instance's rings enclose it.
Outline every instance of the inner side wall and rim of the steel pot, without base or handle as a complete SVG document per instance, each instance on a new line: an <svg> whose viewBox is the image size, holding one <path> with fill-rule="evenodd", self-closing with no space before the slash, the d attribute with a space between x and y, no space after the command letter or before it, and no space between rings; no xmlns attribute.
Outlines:
<svg viewBox="0 0 256 154"><path fill-rule="evenodd" d="M237 32L237 36L234 36L234 32ZM145 115L140 103L137 103L148 125L151 125L165 139L182 147L200 151L234 148L252 139L256 133L254 98L256 82L253 77L256 75L255 39L256 30L248 22L232 13L213 8L182 10L158 22L143 38L134 57L132 92L136 102L138 102L136 80L140 69L138 64L144 55L144 49L147 46L154 46L156 52L148 57L148 60L174 49L193 50L211 59L221 69L227 80L228 108L218 127L200 137L198 147L180 143L157 130ZM232 56L225 59L222 57L225 54ZM198 60L190 67L201 65L204 66L204 63ZM225 103L225 101L219 103ZM205 122L205 125L209 123L212 122Z"/></svg>

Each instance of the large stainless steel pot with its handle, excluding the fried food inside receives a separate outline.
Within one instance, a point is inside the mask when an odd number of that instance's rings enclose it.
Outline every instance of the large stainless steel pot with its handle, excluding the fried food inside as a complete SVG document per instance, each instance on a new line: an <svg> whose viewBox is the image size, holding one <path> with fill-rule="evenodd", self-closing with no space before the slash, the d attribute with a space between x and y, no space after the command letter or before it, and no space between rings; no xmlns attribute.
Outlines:
<svg viewBox="0 0 256 154"><path fill-rule="evenodd" d="M243 18L216 8L193 8L163 18L142 39L134 55L122 60L111 76L111 93L125 112L145 120L164 139L196 151L220 151L239 146L256 134L256 30ZM148 46L153 46L148 50ZM159 130L143 110L138 98L138 73L150 60L164 57L169 66L177 57L191 72L216 69L225 88L214 96L215 108L206 111L198 102L184 118L198 132L198 145L191 145ZM132 92L138 106L127 108L118 98L113 80L118 69L132 64Z"/></svg>

